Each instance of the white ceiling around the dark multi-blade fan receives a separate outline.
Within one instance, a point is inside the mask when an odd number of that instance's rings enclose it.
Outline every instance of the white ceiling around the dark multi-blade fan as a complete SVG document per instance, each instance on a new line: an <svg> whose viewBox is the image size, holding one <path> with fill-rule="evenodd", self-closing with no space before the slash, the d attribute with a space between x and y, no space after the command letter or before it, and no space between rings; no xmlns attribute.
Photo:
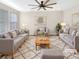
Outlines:
<svg viewBox="0 0 79 59"><path fill-rule="evenodd" d="M0 0L0 2L19 11L33 10L31 9L31 6L28 6L28 4L36 4L34 0ZM50 0L49 3L53 2L57 2L57 4L53 5L53 9L48 10L65 10L79 5L79 0Z"/></svg>

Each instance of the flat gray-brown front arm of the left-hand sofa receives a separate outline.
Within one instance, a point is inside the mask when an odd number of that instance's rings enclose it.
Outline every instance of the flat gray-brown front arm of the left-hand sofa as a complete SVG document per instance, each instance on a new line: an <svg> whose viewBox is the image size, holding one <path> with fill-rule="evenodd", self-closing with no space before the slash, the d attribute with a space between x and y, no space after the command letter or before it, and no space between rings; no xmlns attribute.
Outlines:
<svg viewBox="0 0 79 59"><path fill-rule="evenodd" d="M14 40L8 38L0 38L0 53L13 53Z"/></svg>

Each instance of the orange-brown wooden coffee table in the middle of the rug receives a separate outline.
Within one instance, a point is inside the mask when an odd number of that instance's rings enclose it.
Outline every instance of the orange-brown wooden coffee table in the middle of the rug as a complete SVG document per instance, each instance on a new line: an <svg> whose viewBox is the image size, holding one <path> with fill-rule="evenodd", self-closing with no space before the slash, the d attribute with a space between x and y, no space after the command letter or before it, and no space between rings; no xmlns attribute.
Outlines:
<svg viewBox="0 0 79 59"><path fill-rule="evenodd" d="M46 47L50 48L50 41L48 37L37 37L35 40L36 50L37 47L41 45L45 45Z"/></svg>

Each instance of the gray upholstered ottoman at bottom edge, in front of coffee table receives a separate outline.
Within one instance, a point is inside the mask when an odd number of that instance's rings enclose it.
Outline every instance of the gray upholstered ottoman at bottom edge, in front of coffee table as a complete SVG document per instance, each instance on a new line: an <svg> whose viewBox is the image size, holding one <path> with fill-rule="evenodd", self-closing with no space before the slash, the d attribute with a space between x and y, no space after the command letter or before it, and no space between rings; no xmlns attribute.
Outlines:
<svg viewBox="0 0 79 59"><path fill-rule="evenodd" d="M42 59L64 59L64 55L61 50L44 49Z"/></svg>

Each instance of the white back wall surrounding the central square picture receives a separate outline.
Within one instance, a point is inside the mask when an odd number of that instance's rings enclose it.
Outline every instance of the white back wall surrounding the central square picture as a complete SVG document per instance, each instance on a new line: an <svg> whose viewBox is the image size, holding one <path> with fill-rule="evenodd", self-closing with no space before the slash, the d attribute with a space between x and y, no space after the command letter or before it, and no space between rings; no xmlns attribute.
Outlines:
<svg viewBox="0 0 79 59"><path fill-rule="evenodd" d="M30 11L24 12L20 15L20 27L22 28L23 25L30 30L31 34L34 34L35 30L37 29L36 20L39 16L45 16L47 20L47 27L52 31L55 32L55 26L58 22L63 20L63 12L62 11Z"/></svg>

